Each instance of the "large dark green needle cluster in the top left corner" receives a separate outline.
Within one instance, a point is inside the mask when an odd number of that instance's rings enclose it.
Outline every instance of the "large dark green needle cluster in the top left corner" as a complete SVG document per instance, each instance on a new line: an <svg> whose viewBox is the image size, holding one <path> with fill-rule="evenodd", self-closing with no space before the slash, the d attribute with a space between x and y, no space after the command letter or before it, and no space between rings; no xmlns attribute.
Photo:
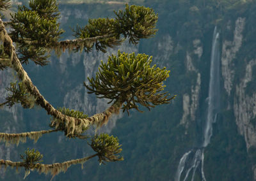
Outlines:
<svg viewBox="0 0 256 181"><path fill-rule="evenodd" d="M19 6L12 15L10 36L18 45L20 62L28 64L29 60L44 66L47 64L51 47L60 38L58 6L56 0L33 0L29 8Z"/></svg>

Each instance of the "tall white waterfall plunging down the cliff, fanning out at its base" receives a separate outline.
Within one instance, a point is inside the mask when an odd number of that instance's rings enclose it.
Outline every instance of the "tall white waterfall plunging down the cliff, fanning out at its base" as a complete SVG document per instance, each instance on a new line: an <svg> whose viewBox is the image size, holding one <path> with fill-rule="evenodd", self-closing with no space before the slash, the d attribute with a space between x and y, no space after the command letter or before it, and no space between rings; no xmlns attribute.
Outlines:
<svg viewBox="0 0 256 181"><path fill-rule="evenodd" d="M202 180L206 181L204 174L204 148L209 145L212 136L212 124L216 122L218 112L220 111L220 33L217 27L214 28L212 37L211 50L211 68L209 80L209 93L207 100L207 116L205 125L203 127L203 142L198 149L191 149L186 152L180 159L175 181L180 181L182 173L184 172L183 181L187 180L189 174L191 181L194 180L196 170L200 170ZM191 152L193 154L191 154ZM192 159L193 158L193 159ZM201 167L198 167L200 166ZM192 172L191 172L192 171Z"/></svg>

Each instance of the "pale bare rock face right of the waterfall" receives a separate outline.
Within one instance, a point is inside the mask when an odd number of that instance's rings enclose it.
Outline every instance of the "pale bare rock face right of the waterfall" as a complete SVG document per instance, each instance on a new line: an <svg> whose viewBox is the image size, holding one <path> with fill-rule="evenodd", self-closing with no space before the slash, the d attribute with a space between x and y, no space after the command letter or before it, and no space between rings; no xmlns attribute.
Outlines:
<svg viewBox="0 0 256 181"><path fill-rule="evenodd" d="M234 40L233 41L223 41L222 56L221 56L221 69L222 76L224 80L224 88L227 91L228 96L230 92L234 91L234 115L236 117L236 124L239 130L239 133L244 136L246 142L246 147L256 147L256 129L255 122L251 120L255 118L256 111L256 94L255 92L250 95L246 93L246 87L249 82L254 81L253 67L256 65L255 60L246 60L244 61L244 67L239 68L243 69L244 76L239 78L239 82L234 81L234 75L237 68L232 62L237 52L240 48L243 48L243 30L244 25L246 24L246 18L237 18L236 26L234 29Z"/></svg>

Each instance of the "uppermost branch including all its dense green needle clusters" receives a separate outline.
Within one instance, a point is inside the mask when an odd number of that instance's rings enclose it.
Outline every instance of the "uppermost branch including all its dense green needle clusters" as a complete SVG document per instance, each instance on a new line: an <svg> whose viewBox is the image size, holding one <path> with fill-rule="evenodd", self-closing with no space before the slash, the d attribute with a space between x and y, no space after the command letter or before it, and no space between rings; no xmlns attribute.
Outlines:
<svg viewBox="0 0 256 181"><path fill-rule="evenodd" d="M125 10L114 11L115 18L97 18L88 20L88 24L77 25L74 36L77 40L60 41L59 11L56 0L31 1L30 8L20 6L12 15L10 36L16 43L19 60L45 66L49 52L54 49L61 55L66 49L69 52L90 52L95 47L97 51L107 52L127 38L130 43L137 44L141 38L150 38L156 34L157 15L151 8L143 6L125 6Z"/></svg>

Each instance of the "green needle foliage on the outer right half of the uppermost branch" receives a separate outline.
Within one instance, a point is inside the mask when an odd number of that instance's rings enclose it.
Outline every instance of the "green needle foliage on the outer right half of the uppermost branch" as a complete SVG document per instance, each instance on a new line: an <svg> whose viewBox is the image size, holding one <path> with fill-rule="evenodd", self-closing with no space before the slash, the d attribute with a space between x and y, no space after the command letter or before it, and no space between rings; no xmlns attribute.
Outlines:
<svg viewBox="0 0 256 181"><path fill-rule="evenodd" d="M114 47L122 43L122 37L129 38L129 42L138 43L141 38L149 38L156 34L157 15L151 8L143 6L125 6L125 11L116 12L116 18L90 19L84 27L77 26L74 35L76 38L90 38L109 35L92 45L84 46L86 52L91 51L93 45L96 50L106 52L108 47ZM81 47L77 47L81 50Z"/></svg>

